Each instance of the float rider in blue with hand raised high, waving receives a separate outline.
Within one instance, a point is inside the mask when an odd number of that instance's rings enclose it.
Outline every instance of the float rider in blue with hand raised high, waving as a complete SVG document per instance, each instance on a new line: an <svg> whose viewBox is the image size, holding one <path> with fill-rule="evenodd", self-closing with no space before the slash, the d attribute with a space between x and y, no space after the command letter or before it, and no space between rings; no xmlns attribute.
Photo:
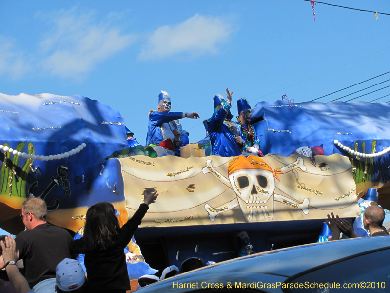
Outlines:
<svg viewBox="0 0 390 293"><path fill-rule="evenodd" d="M209 135L213 146L213 155L221 157L233 157L241 154L241 148L245 146L245 139L241 133L239 124L231 121L230 113L232 94L226 89L227 101L221 95L214 96L213 117L208 120Z"/></svg>

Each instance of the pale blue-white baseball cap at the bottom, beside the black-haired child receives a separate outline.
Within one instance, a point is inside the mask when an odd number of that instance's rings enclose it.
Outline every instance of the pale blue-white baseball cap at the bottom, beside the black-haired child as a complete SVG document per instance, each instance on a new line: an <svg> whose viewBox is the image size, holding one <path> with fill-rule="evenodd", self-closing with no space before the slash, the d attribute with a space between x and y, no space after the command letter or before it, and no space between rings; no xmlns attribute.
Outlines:
<svg viewBox="0 0 390 293"><path fill-rule="evenodd" d="M56 284L62 291L73 291L85 282L85 273L75 259L65 258L56 268Z"/></svg>

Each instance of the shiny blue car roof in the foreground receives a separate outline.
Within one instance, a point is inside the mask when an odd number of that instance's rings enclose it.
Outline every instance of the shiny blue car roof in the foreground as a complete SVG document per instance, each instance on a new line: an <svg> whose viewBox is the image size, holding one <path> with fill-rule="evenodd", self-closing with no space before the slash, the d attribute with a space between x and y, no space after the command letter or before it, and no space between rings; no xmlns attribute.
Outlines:
<svg viewBox="0 0 390 293"><path fill-rule="evenodd" d="M295 246L286 249L256 253L167 279L172 282L203 280L206 276L267 274L291 277L312 268L369 251L390 248L390 237L365 237ZM147 286L163 287L165 281Z"/></svg>

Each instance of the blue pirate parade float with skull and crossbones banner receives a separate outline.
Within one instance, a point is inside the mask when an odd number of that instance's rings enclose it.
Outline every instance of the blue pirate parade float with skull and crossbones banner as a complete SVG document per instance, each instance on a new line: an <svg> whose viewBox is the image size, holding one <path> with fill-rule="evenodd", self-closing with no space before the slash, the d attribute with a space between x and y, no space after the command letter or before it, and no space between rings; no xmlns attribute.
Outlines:
<svg viewBox="0 0 390 293"><path fill-rule="evenodd" d="M155 269L236 257L242 230L255 252L315 242L327 214L358 216L358 199L389 178L384 103L257 103L251 122L264 157L180 158L129 148L123 117L96 100L0 99L0 227L22 231L21 203L34 195L49 223L82 236L89 206L111 202L123 224L156 190L135 234L142 253L129 244L133 263Z"/></svg>

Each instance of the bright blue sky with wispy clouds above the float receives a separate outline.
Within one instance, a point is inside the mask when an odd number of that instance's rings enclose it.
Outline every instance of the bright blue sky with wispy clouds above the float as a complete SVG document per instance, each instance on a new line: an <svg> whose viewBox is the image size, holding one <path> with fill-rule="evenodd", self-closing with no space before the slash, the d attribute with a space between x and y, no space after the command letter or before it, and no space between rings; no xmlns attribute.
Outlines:
<svg viewBox="0 0 390 293"><path fill-rule="evenodd" d="M388 0L327 2L390 13ZM172 111L200 114L182 121L197 142L212 97L226 87L233 105L283 94L305 102L390 71L390 16L314 9L315 22L311 3L301 0L0 0L0 92L96 99L119 110L145 143L148 112L165 90Z"/></svg>

